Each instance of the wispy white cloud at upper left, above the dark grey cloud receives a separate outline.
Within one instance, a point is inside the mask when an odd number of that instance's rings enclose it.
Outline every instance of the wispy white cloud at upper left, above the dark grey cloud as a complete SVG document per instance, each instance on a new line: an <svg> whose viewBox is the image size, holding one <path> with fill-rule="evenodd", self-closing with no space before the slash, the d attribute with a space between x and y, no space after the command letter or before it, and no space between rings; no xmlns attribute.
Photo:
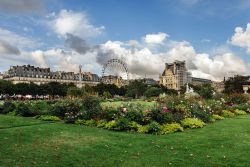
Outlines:
<svg viewBox="0 0 250 167"><path fill-rule="evenodd" d="M48 18L48 26L61 36L72 34L74 36L86 38L102 34L104 26L96 27L89 22L84 12L74 12L71 10L61 10L58 14L53 13Z"/></svg>

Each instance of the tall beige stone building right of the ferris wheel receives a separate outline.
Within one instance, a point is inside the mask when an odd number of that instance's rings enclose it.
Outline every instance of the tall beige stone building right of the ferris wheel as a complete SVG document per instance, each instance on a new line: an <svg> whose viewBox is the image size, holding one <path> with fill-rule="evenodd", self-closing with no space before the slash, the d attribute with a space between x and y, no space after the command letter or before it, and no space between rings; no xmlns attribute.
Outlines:
<svg viewBox="0 0 250 167"><path fill-rule="evenodd" d="M191 73L187 71L185 61L166 63L165 70L160 76L160 85L168 89L180 90L182 86L191 81Z"/></svg>

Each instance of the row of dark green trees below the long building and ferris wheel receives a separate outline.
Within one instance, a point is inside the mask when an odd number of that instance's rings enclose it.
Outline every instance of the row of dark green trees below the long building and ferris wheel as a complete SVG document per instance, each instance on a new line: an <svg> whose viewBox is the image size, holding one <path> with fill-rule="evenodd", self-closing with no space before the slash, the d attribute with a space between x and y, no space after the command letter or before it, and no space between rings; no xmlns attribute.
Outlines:
<svg viewBox="0 0 250 167"><path fill-rule="evenodd" d="M20 94L20 95L59 95L81 97L85 94L97 94L106 98L115 95L139 98L141 96L153 97L161 93L177 94L177 91L170 90L160 85L147 85L142 81L133 81L129 85L117 87L114 84L99 83L96 86L84 86L77 88L74 83L61 84L58 82L49 82L47 84L36 85L34 83L13 84L10 81L0 80L0 94Z"/></svg>

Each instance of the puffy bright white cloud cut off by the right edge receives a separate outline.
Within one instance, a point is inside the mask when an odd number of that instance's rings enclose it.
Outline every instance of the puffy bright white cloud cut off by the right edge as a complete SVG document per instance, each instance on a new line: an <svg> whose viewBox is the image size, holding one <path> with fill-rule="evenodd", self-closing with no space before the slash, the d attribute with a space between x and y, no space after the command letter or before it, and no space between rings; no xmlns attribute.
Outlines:
<svg viewBox="0 0 250 167"><path fill-rule="evenodd" d="M250 23L244 31L242 27L236 27L235 33L231 38L231 43L235 46L245 48L247 53L250 54Z"/></svg>

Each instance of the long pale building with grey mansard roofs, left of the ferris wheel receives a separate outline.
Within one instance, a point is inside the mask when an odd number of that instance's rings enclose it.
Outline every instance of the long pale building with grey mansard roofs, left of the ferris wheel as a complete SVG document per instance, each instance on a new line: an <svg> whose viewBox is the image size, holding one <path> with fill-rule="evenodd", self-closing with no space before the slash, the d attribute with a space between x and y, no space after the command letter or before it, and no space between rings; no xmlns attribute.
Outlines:
<svg viewBox="0 0 250 167"><path fill-rule="evenodd" d="M52 72L50 68L40 68L30 65L11 66L3 75L3 79L16 83L35 83L44 84L48 82L75 83L79 85L96 85L100 82L100 78L96 74L90 72Z"/></svg>

